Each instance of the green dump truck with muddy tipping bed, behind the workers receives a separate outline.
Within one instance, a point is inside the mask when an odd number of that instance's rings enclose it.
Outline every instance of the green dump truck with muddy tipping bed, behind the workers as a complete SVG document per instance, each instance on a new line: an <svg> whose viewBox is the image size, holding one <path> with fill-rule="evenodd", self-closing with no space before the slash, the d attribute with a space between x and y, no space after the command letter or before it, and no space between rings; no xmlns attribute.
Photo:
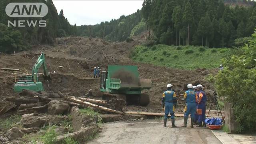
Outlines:
<svg viewBox="0 0 256 144"><path fill-rule="evenodd" d="M108 70L100 74L103 100L114 97L123 99L126 104L147 106L150 98L142 90L150 89L151 84L150 79L139 78L137 66L108 66Z"/></svg>

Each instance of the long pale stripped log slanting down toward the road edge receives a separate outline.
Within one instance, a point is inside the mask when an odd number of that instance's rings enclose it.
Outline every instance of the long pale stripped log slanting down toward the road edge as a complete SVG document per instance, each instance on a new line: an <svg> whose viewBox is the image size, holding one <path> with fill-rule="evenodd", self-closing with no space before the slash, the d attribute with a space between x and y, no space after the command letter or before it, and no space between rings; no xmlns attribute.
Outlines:
<svg viewBox="0 0 256 144"><path fill-rule="evenodd" d="M71 102L76 102L78 104L84 104L86 106L91 106L91 107L94 107L94 108L98 108L98 109L103 110L105 112L112 112L112 113L116 113L116 114L124 114L123 112L120 112L118 110L112 110L110 108L107 108L107 107L104 107L104 106L99 106L97 104L92 104L90 102L82 101L82 100L79 100L77 98L66 97L66 100L71 101Z"/></svg>

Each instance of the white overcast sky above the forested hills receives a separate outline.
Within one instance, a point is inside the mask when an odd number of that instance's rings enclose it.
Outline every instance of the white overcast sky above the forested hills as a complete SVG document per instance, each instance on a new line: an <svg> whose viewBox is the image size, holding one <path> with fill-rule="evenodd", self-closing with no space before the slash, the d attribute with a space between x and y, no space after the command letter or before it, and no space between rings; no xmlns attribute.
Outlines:
<svg viewBox="0 0 256 144"><path fill-rule="evenodd" d="M118 19L142 8L143 0L53 0L60 13L63 9L68 22L76 26L94 25Z"/></svg>

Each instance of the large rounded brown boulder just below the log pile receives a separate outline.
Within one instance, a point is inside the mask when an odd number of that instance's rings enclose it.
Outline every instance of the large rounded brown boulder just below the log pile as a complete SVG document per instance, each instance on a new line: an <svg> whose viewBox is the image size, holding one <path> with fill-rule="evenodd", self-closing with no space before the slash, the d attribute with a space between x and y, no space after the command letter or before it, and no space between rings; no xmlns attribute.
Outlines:
<svg viewBox="0 0 256 144"><path fill-rule="evenodd" d="M68 111L68 104L58 100L52 100L48 103L48 112L50 114L62 114Z"/></svg>

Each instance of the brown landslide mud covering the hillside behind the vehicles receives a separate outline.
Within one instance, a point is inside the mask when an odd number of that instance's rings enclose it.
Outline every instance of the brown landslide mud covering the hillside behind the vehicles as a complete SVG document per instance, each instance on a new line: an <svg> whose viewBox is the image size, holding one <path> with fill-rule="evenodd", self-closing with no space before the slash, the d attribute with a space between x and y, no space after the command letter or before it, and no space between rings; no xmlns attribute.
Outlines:
<svg viewBox="0 0 256 144"><path fill-rule="evenodd" d="M94 98L100 99L99 79L93 78L94 66L100 66L102 70L107 70L107 66L113 65L136 65L140 72L140 78L150 78L152 88L144 92L150 95L150 104L146 107L127 106L125 111L148 111L162 112L160 105L162 92L166 89L166 84L171 83L177 94L183 94L186 84L204 85L205 89L212 89L204 77L208 73L216 73L217 70L205 70L203 72L176 70L151 64L132 62L129 58L130 50L142 40L128 42L106 42L100 39L89 39L82 37L57 38L53 46L40 45L33 50L19 52L11 55L1 54L1 68L16 68L18 72L0 70L0 98L1 110L14 106L12 102L5 99L7 97L18 96L13 92L15 77L23 74L30 74L33 64L41 52L46 54L46 65L51 73L52 82L50 87L44 84L46 92L55 94L58 90L64 94L72 96L84 96L92 89ZM61 68L63 67L63 68ZM54 73L55 71L55 73ZM39 72L43 72L42 69ZM183 102L180 102L180 108Z"/></svg>

